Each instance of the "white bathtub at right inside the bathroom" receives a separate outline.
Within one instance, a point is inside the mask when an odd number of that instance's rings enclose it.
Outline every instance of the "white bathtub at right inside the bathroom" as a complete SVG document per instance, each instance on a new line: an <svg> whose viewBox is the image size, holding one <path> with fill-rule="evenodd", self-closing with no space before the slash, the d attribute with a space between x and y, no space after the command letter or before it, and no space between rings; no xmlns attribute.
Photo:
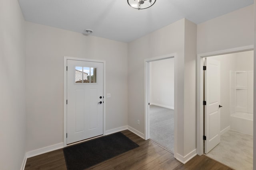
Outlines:
<svg viewBox="0 0 256 170"><path fill-rule="evenodd" d="M245 112L235 112L231 114L230 129L253 135L253 114Z"/></svg>

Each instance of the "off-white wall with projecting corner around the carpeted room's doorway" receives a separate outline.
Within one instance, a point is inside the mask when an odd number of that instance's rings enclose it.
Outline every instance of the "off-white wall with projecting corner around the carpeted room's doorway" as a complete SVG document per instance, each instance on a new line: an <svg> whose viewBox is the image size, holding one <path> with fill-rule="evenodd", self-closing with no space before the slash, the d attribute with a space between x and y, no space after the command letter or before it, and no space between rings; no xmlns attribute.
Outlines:
<svg viewBox="0 0 256 170"><path fill-rule="evenodd" d="M182 19L128 43L128 125L144 133L144 59L171 53L177 53L177 153L185 156L196 149L196 24Z"/></svg>

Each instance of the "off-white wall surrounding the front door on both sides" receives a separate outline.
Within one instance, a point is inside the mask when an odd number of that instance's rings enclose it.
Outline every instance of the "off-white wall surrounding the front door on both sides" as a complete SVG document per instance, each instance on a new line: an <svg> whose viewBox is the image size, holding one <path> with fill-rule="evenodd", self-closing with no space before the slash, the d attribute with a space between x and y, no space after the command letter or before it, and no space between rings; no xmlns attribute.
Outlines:
<svg viewBox="0 0 256 170"><path fill-rule="evenodd" d="M64 56L106 61L106 130L127 125L127 53L127 43L26 22L26 150L63 142Z"/></svg>

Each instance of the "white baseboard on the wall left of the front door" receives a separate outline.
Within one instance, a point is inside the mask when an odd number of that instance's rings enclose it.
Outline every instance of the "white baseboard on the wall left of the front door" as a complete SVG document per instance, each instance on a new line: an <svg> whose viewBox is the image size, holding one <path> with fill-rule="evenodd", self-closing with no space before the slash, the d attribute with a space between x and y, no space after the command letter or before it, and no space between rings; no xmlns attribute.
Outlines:
<svg viewBox="0 0 256 170"><path fill-rule="evenodd" d="M63 148L63 142L62 143L57 143L57 144L54 144L54 145L51 145L51 146L48 146L48 147L28 151L26 153L26 155L27 155L27 158L31 158L33 156L37 156L37 155L44 154L46 152L51 152L53 150L57 150L57 149L61 149L61 148Z"/></svg>

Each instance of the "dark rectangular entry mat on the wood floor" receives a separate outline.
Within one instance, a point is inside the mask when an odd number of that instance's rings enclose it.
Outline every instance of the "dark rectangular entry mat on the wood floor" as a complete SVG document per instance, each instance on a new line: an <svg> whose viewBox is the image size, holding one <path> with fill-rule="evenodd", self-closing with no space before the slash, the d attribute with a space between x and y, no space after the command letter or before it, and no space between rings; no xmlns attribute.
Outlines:
<svg viewBox="0 0 256 170"><path fill-rule="evenodd" d="M138 147L121 132L63 149L68 170L84 170Z"/></svg>

